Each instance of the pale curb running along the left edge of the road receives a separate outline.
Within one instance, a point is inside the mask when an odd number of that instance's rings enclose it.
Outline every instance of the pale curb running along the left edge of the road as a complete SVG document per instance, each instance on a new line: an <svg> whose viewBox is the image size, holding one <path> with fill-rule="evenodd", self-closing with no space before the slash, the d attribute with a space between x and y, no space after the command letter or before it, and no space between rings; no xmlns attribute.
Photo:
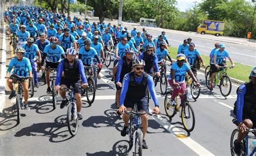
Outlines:
<svg viewBox="0 0 256 156"><path fill-rule="evenodd" d="M5 40L5 26L3 26L2 38L2 64L1 64L1 80L0 80L0 112L2 113L5 104L5 73L6 73L6 40Z"/></svg>

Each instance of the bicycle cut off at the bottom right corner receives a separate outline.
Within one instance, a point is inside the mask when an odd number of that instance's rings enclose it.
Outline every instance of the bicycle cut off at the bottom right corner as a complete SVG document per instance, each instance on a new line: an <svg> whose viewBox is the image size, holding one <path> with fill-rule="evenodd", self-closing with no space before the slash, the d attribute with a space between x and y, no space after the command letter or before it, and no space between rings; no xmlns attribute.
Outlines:
<svg viewBox="0 0 256 156"><path fill-rule="evenodd" d="M238 126L238 122L237 122L237 119L233 119L232 120L233 124L237 125ZM256 139L256 136L250 136L249 133L256 133L256 129L247 129L246 130L248 132L248 134L242 139L241 141L241 155L250 155L250 156L253 156L256 154L256 148L254 147L253 151L249 151L249 139L253 139L255 140ZM239 129L234 129L232 134L231 134L231 138L230 138L230 150L231 150L231 155L234 156L236 155L234 153L234 140L237 138L237 135L238 135L238 132L239 132Z"/></svg>

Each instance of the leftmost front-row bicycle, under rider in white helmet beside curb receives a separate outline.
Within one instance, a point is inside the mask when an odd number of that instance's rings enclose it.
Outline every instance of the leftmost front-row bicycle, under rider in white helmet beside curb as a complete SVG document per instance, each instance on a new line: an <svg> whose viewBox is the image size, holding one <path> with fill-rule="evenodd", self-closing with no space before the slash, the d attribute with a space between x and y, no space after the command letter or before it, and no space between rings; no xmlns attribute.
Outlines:
<svg viewBox="0 0 256 156"><path fill-rule="evenodd" d="M21 122L21 109L24 109L24 102L23 102L23 87L22 82L30 77L23 77L12 74L10 77L5 77L5 79L12 79L12 82L18 83L18 91L16 95L16 109L17 109L17 124Z"/></svg>

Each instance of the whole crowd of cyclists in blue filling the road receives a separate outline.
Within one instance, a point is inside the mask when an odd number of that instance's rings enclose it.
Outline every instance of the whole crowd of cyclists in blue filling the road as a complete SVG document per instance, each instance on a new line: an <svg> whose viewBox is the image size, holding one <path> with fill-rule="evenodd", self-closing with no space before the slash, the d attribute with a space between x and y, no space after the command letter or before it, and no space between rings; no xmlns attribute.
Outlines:
<svg viewBox="0 0 256 156"><path fill-rule="evenodd" d="M138 105L140 112L149 111L147 102L147 89L154 102L153 112L159 114L159 103L154 88L153 77L160 76L161 65L166 57L170 60L171 70L168 82L173 89L171 103L174 104L174 98L181 93L181 101L184 101L186 94L186 75L189 74L197 87L200 83L197 79L196 71L200 64L206 67L200 52L191 38L185 39L183 44L178 47L178 52L171 59L169 46L170 43L166 37L165 31L161 32L156 39L153 39L144 27L142 32L134 26L129 31L123 25L112 25L111 23L90 23L89 19L82 20L79 17L67 17L62 13L44 10L35 6L12 6L4 13L5 19L9 21L10 45L17 44L15 58L10 61L6 77L10 77L10 72L14 68L13 74L18 76L33 77L35 87L38 86L39 70L46 71L46 93L51 94L50 72L52 68L57 68L56 91L59 91L62 97L60 108L63 109L68 103L65 90L60 88L69 88L71 85L76 87L75 97L77 103L78 118L83 119L81 115L82 108L82 88L88 85L86 79L86 69L84 66L97 67L98 79L100 79L100 70L103 67L103 61L106 59L104 51L106 46L113 47L113 70L112 81L116 84L116 106L118 114L123 114L124 128L122 136L126 136L126 129L129 122L129 115L125 111L132 111L134 104ZM17 43L12 42L12 37L17 37ZM215 73L221 70L219 66L225 66L225 60L228 58L231 66L234 63L231 56L225 49L224 44L216 43L210 53L211 83L208 89L213 89ZM177 60L174 62L174 60ZM252 107L255 110L255 79L256 71L252 71L249 85L254 90L250 95L253 100ZM9 99L16 95L12 85L12 79L7 80L8 87L11 90ZM22 82L24 88L25 109L29 109L28 95L29 82ZM81 88L82 87L82 88ZM241 96L247 95L245 87L239 88L239 103L243 103ZM254 97L253 97L254 96ZM246 96L244 97L246 98ZM254 115L247 114L241 117L242 105L246 105L246 100L240 104L239 122L240 128L255 127L256 118ZM256 111L255 111L256 112ZM147 131L147 115L142 115L143 126L143 148L147 148L145 135ZM243 120L242 120L243 119ZM245 120L246 121L245 121ZM248 119L251 121L248 122ZM253 124L252 124L253 123ZM244 131L240 134L242 136ZM235 142L239 148L239 141ZM239 150L237 150L239 151Z"/></svg>

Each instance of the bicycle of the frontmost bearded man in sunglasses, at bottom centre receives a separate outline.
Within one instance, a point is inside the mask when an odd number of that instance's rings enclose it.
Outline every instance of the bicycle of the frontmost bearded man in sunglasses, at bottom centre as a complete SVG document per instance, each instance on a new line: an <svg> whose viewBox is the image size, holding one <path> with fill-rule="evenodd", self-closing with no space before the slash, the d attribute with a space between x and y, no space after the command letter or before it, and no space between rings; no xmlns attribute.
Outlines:
<svg viewBox="0 0 256 156"><path fill-rule="evenodd" d="M134 104L133 111L125 111L125 114L130 115L130 123L128 128L126 129L126 133L129 135L129 145L132 147L133 155L142 155L142 127L140 124L141 118L140 115L149 114L153 115L153 112L138 112L137 104Z"/></svg>

